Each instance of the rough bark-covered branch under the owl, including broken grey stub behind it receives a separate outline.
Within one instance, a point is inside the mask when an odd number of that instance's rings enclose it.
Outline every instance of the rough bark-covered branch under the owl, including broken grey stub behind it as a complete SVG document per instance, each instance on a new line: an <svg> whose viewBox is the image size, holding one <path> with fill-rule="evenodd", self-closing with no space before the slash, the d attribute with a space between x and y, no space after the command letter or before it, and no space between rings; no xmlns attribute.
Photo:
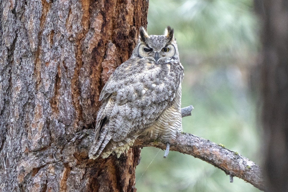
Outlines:
<svg viewBox="0 0 288 192"><path fill-rule="evenodd" d="M182 108L182 117L191 115L192 109L192 106ZM166 144L154 141L147 136L137 138L133 145L133 147L148 146L166 149ZM170 143L170 150L192 155L214 165L230 175L230 182L233 181L233 176L236 176L264 190L262 169L257 164L207 139L189 133L180 133L176 140Z"/></svg>

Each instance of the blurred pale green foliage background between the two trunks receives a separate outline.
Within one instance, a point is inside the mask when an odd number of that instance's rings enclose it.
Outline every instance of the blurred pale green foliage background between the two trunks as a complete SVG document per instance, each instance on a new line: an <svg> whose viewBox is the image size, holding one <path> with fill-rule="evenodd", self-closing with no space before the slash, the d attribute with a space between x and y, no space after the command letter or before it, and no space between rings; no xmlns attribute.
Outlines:
<svg viewBox="0 0 288 192"><path fill-rule="evenodd" d="M182 119L183 131L221 143L262 164L257 122L257 55L260 22L250 0L150 0L147 32L160 35L174 28L184 66L182 107L193 105ZM159 153L158 153L159 152ZM145 147L136 169L141 192L260 191L190 155Z"/></svg>

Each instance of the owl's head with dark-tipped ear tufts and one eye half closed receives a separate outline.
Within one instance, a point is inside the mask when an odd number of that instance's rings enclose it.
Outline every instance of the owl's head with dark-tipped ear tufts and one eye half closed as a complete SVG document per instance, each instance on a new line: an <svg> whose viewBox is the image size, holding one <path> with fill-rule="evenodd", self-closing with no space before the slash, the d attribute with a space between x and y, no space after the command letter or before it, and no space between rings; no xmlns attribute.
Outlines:
<svg viewBox="0 0 288 192"><path fill-rule="evenodd" d="M139 39L131 58L145 58L154 62L179 61L179 53L174 29L168 26L164 35L148 35L141 26Z"/></svg>

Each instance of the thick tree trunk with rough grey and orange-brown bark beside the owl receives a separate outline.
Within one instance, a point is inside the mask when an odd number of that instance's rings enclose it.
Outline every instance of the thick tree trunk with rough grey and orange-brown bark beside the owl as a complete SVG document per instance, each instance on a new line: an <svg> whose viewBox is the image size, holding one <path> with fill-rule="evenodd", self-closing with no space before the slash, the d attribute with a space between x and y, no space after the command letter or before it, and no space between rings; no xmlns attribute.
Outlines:
<svg viewBox="0 0 288 192"><path fill-rule="evenodd" d="M87 134L104 83L146 27L148 1L0 5L1 191L136 191L140 149L90 160Z"/></svg>

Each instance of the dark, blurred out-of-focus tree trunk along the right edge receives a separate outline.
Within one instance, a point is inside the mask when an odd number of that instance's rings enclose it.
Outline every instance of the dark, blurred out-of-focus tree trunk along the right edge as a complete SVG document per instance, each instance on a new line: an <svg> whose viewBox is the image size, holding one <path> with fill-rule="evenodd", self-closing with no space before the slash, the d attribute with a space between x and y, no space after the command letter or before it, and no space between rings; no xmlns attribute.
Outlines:
<svg viewBox="0 0 288 192"><path fill-rule="evenodd" d="M264 2L264 3L263 3ZM267 191L288 191L288 3L255 0L264 22L261 95Z"/></svg>

